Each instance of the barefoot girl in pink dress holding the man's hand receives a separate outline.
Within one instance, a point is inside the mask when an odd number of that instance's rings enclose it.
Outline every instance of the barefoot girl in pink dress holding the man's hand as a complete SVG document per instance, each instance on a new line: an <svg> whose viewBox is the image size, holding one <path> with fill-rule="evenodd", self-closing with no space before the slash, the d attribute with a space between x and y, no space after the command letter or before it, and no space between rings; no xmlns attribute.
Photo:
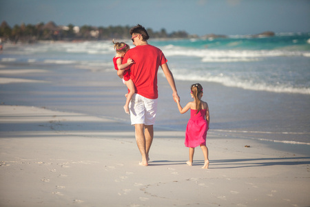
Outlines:
<svg viewBox="0 0 310 207"><path fill-rule="evenodd" d="M184 108L180 106L180 101L176 101L178 110L181 114L187 112L189 108L191 109L191 118L187 123L185 133L185 146L189 148L189 161L187 161L186 164L192 166L195 148L196 146L200 146L205 157L205 164L202 168L208 168L209 152L205 141L207 138L207 130L209 129L210 117L208 103L201 100L203 97L203 86L201 86L200 83L191 86L191 96L194 101L187 103Z"/></svg>

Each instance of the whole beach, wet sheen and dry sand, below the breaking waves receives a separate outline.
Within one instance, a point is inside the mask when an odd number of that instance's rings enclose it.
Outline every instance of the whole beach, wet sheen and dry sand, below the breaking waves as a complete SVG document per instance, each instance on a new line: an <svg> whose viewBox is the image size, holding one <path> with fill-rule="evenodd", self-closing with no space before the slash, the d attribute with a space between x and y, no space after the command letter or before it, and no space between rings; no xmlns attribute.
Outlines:
<svg viewBox="0 0 310 207"><path fill-rule="evenodd" d="M310 205L309 95L200 82L211 115L205 170L200 148L185 164L189 115L159 74L145 167L111 68L1 63L0 206ZM190 83L176 81L183 105Z"/></svg>

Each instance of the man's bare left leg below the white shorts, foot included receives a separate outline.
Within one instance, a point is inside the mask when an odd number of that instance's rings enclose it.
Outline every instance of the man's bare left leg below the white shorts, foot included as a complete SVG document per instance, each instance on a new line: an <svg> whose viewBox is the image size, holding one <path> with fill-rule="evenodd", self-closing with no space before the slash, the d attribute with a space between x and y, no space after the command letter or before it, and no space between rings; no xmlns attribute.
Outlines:
<svg viewBox="0 0 310 207"><path fill-rule="evenodd" d="M134 125L136 132L136 145L140 150L142 161L139 163L141 166L147 166L147 152L146 152L146 141L144 135L144 124L135 124Z"/></svg>

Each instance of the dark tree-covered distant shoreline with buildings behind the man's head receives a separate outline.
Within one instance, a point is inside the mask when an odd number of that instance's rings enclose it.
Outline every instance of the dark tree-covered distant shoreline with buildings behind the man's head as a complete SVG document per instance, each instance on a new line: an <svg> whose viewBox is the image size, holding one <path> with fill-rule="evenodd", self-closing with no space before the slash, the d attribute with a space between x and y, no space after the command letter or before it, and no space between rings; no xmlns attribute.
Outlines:
<svg viewBox="0 0 310 207"><path fill-rule="evenodd" d="M0 26L0 38L2 41L32 43L39 40L52 41L92 41L104 39L129 39L131 26L108 26L94 27L81 26L77 27L72 24L68 26L56 26L52 21L44 24L15 25L11 28L6 21ZM172 32L167 34L165 29L155 32L152 28L147 28L149 37L154 38L188 38L189 34L185 31Z"/></svg>

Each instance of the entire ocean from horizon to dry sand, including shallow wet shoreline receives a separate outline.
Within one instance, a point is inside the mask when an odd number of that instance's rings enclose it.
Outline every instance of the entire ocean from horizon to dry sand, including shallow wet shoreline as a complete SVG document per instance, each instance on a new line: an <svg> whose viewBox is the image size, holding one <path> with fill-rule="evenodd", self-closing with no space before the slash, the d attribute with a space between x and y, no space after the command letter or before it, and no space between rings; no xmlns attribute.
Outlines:
<svg viewBox="0 0 310 207"><path fill-rule="evenodd" d="M125 41L134 47L130 39ZM161 48L168 59L183 106L191 101L189 86L202 83L203 99L209 103L211 114L210 132L223 137L310 145L310 33L151 39L149 43ZM50 81L42 88L32 88L31 83L2 84L1 102L5 104L113 117L113 107L122 109L125 103L125 86L116 77L112 63L112 40L5 43L3 48L0 70L44 70L14 77ZM163 72L158 75L164 77ZM2 73L1 77L12 75ZM103 92L101 81L110 83L111 88ZM158 86L163 101L156 126L185 130L189 116L178 114L166 82L163 79L163 86ZM21 87L14 95L13 84ZM54 99L45 97L47 93ZM103 106L111 110L101 114ZM114 118L129 121L126 115Z"/></svg>

